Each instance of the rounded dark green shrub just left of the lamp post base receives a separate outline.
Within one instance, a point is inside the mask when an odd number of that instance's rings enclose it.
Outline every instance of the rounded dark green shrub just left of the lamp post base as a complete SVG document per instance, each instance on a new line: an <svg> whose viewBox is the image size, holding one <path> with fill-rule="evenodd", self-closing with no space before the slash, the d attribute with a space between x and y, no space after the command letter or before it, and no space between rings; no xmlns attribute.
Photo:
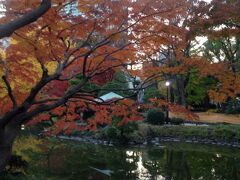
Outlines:
<svg viewBox="0 0 240 180"><path fill-rule="evenodd" d="M158 109L152 109L148 111L147 122L153 125L162 125L165 123L165 114L164 112Z"/></svg>

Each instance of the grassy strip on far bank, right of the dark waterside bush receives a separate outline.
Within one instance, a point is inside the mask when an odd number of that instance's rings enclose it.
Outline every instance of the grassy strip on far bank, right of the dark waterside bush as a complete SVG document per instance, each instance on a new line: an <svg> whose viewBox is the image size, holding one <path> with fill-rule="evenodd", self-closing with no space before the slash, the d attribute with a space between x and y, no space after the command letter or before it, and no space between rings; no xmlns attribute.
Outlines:
<svg viewBox="0 0 240 180"><path fill-rule="evenodd" d="M147 140L154 137L174 137L179 139L210 139L216 141L239 142L239 125L209 126L154 126L140 123L138 130L129 136L131 141Z"/></svg>

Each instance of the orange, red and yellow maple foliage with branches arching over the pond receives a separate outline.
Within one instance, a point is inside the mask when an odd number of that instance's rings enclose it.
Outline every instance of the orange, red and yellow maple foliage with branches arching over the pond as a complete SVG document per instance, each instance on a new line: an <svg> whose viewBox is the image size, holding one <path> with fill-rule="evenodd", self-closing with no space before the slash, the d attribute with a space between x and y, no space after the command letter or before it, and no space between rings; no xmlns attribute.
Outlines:
<svg viewBox="0 0 240 180"><path fill-rule="evenodd" d="M200 76L213 76L219 82L209 91L212 99L224 101L240 92L239 75L229 72L228 64L209 62L191 54L189 48L199 32L213 35L200 27L209 27L211 21L217 24L219 11L229 11L232 6L220 4L215 16L204 19L206 16L199 17L199 13L208 14L210 5L198 1L9 0L2 2L6 11L0 22L11 22L47 2L52 6L46 13L6 35L10 37L1 43L2 127L10 122L16 122L16 126L35 124L54 115L59 119L53 123L52 132L69 133L109 124L113 116L122 117L120 125L139 120L133 102L99 103L95 92L83 89L88 82L106 83L118 70L139 76L145 83L166 77L185 78L189 69L197 68ZM214 3L218 5L213 1L212 6L216 6ZM220 20L232 17L236 14ZM154 58L163 53L168 53L165 62L156 65ZM143 67L139 71L128 69L139 64ZM70 86L69 81L78 75L81 81ZM96 114L82 127L76 124L82 120L78 111L86 109ZM169 110L191 114L175 104L170 104Z"/></svg>

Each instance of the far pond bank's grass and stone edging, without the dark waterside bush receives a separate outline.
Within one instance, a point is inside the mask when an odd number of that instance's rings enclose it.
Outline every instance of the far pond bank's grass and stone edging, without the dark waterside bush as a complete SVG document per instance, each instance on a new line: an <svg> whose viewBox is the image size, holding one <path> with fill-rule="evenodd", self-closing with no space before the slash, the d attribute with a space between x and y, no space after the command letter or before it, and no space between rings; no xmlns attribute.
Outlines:
<svg viewBox="0 0 240 180"><path fill-rule="evenodd" d="M233 125L165 125L154 126L146 123L138 125L132 134L114 139L111 134L100 130L92 134L58 136L60 139L77 140L91 144L109 146L160 146L161 142L186 142L226 146L240 149L240 126Z"/></svg>

